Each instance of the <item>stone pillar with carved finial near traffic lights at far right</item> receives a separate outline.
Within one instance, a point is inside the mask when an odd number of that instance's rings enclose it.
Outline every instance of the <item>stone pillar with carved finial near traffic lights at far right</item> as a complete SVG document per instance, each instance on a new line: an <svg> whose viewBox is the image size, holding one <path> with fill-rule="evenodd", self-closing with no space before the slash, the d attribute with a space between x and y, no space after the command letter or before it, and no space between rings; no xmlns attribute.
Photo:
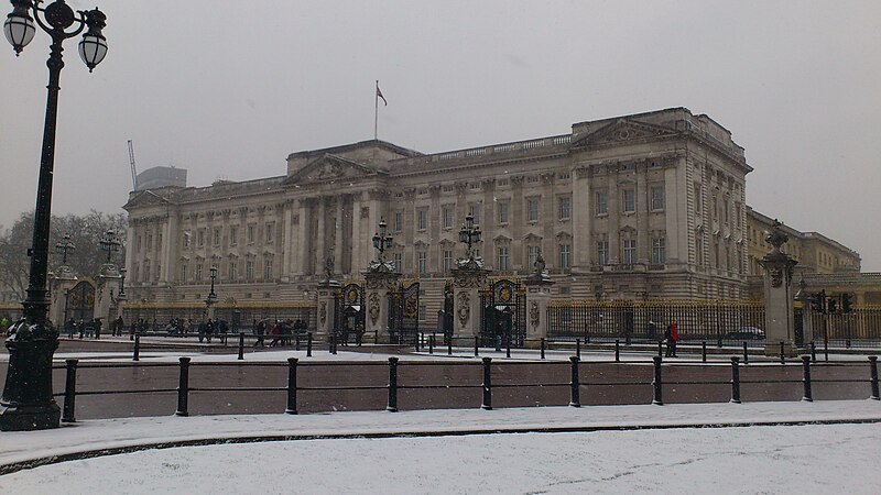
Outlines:
<svg viewBox="0 0 881 495"><path fill-rule="evenodd" d="M774 220L771 233L765 238L765 241L774 249L759 262L765 271L764 353L765 355L780 355L780 345L783 342L783 352L794 356L797 349L795 346L792 276L797 262L780 251L780 248L790 240L781 227L782 224Z"/></svg>

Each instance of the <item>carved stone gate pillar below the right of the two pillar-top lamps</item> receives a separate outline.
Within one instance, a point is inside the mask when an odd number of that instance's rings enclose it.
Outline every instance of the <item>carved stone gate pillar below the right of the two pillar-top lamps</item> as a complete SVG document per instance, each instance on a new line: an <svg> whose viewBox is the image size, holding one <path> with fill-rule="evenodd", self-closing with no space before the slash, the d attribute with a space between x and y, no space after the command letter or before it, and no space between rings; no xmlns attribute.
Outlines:
<svg viewBox="0 0 881 495"><path fill-rule="evenodd" d="M489 283L489 271L475 258L459 260L453 277L453 336L477 336L480 333L480 289Z"/></svg>

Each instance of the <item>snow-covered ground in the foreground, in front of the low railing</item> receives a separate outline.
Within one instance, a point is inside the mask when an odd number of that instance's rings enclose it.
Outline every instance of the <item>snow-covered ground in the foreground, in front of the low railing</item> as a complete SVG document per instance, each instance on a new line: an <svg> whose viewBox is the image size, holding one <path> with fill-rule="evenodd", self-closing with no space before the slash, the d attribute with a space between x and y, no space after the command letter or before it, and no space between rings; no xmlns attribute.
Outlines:
<svg viewBox="0 0 881 495"><path fill-rule="evenodd" d="M83 421L0 433L0 465L216 443L24 469L0 476L0 490L874 494L880 420L881 403L851 400Z"/></svg>

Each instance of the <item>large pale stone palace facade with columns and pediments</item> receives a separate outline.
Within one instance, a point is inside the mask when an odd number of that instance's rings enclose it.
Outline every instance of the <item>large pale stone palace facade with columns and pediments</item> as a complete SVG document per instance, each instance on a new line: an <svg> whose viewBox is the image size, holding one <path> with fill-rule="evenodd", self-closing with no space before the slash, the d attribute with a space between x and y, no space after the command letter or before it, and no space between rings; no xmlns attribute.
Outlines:
<svg viewBox="0 0 881 495"><path fill-rule="evenodd" d="M542 253L573 299L747 297L747 164L731 133L673 108L572 125L563 135L423 154L365 141L287 157L284 175L131 193L132 301L309 300L333 257L359 280L377 253L442 301L467 215L493 276Z"/></svg>

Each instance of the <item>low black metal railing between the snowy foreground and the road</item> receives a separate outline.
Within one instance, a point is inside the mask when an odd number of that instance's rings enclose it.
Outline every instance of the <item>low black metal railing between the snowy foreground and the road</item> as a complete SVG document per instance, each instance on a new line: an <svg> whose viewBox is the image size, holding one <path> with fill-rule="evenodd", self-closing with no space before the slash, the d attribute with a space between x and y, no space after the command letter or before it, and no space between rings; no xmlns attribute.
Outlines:
<svg viewBox="0 0 881 495"><path fill-rule="evenodd" d="M301 362L296 358L290 358L282 363L237 363L237 362L214 362L202 363L192 362L189 358L180 358L177 363L150 363L150 364L116 364L116 363L79 363L77 360L66 360L64 365L54 366L55 370L65 370L65 387L55 396L64 397L63 418L65 422L76 421L77 398L88 396L132 396L132 395L176 395L176 408L174 414L177 416L188 416L192 408L192 399L198 393L220 394L221 404L231 399L236 395L243 394L284 394L284 398L279 397L279 413L297 414L300 406L304 404L313 405L315 399L303 398L303 394L328 394L344 393L345 397L351 399L355 394L368 394L370 398L366 402L366 409L384 408L389 411L398 411L401 408L400 395L409 394L405 398L403 408L407 409L435 409L438 407L455 407L455 403L435 400L435 395L459 394L464 404L482 409L492 409L493 394L502 394L505 407L522 407L523 405L568 405L579 407L586 393L594 394L591 399L595 403L602 403L597 397L598 389L629 389L633 393L626 394L627 397L644 397L651 404L663 405L666 402L695 402L694 391L704 392L709 400L728 400L739 404L743 400L743 387L776 387L779 397L774 399L802 399L814 400L815 386L827 385L830 398L869 398L879 400L879 378L877 356L869 356L867 362L835 362L835 363L814 363L811 356L801 356L798 361L784 360L779 364L763 363L762 366L749 366L741 363L740 358L730 358L730 371L726 372L725 364L711 366L682 366L676 364L665 364L663 358L653 356L651 361L629 360L620 362L581 362L578 356L573 355L566 362L493 362L491 358L485 356L480 361L401 361L399 358L389 358L388 362L367 361L367 362ZM637 372L619 374L619 377L609 377L602 371L608 370L602 366L618 366L621 363L634 364ZM801 365L798 365L801 364ZM359 373L352 375L349 371L335 373L339 369L358 366ZM524 366L533 366L524 370ZM535 367L539 366L539 367ZM118 372L120 378L132 376L132 369L135 375L143 375L145 370L165 370L167 383L151 383L152 386L143 388L115 388L115 389L78 389L78 373L83 370L99 370L102 375ZM194 383L193 374L195 371L217 371L220 369L233 367L239 374L262 369L286 371L286 381L279 380L258 381L260 385L252 386L229 386L224 381L215 382L219 385L205 383ZM385 373L381 373L381 369ZM365 378L360 383L328 383L328 381L312 381L301 383L301 373L316 371L320 376L358 376ZM407 371L413 372L407 373ZM465 370L464 373L454 373L456 380L450 380L450 374L436 373L434 370ZM372 370L372 371L371 371ZM690 373L688 371L690 370ZM744 372L747 372L744 376ZM172 371L173 373L167 373ZM174 373L176 371L176 373ZM377 373L377 371L380 371ZM402 376L402 372L403 376ZM844 374L841 372L845 372ZM813 373L813 374L812 374ZM275 373L278 375L278 373ZM176 375L176 376L175 376ZM216 375L208 373L207 376ZM228 375L228 374L224 374ZM313 373L316 375L316 373ZM262 375L261 375L262 376ZM385 378L385 376L388 378ZM176 383L170 380L176 378ZM276 376L278 378L278 376ZM204 378L203 378L204 380ZM118 383L124 383L120 380ZM844 397L835 396L846 388L846 385L856 387L848 392ZM526 397L526 402L512 400L511 393L505 391L521 392L521 396ZM541 404L533 403L534 394L545 394ZM556 391L554 393L554 391ZM726 392L730 391L730 395ZM859 392L862 391L862 392ZM568 393L566 393L568 392ZM381 395L377 395L380 393ZM415 394L428 394L427 400L417 402ZM552 393L547 395L548 393ZM463 395L464 394L464 395ZM677 400L668 400L665 394L679 397ZM379 398L384 396L384 404ZM753 393L753 396L764 398L764 395ZM714 400L715 398L715 400ZM765 398L768 399L768 398ZM410 402L407 404L407 402ZM437 406L442 404L440 406ZM453 404L450 406L449 404ZM627 402L624 404L633 404ZM467 406L466 406L467 407ZM314 407L313 407L314 408ZM354 407L352 407L354 408ZM171 410L167 413L172 413ZM225 414L226 409L209 410L205 414Z"/></svg>

